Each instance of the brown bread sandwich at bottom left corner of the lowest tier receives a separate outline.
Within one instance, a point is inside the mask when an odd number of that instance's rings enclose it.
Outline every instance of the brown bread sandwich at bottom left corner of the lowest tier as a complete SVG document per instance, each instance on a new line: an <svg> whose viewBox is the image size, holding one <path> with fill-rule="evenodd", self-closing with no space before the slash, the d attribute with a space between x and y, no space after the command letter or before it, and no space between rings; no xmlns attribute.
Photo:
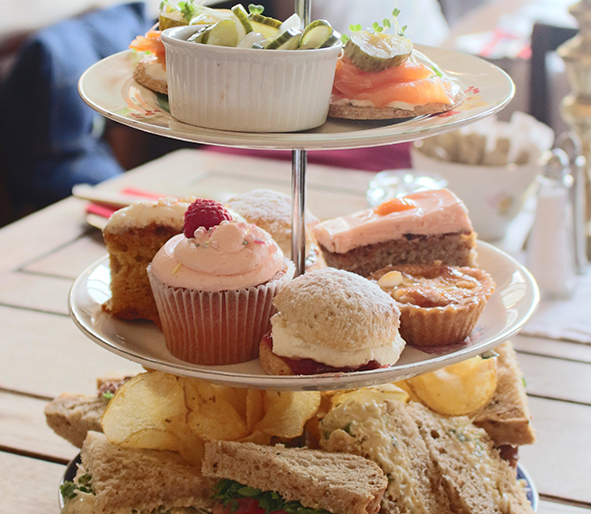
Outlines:
<svg viewBox="0 0 591 514"><path fill-rule="evenodd" d="M73 482L61 487L63 514L201 514L213 482L178 453L123 448L89 432Z"/></svg>

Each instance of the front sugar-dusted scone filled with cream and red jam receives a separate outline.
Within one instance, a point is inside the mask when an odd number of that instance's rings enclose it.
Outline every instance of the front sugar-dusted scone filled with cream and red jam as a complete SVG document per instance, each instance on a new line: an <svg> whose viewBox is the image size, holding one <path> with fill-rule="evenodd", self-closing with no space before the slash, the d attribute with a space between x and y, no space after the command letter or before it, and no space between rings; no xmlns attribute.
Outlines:
<svg viewBox="0 0 591 514"><path fill-rule="evenodd" d="M300 275L273 304L278 312L259 352L269 374L378 369L393 365L405 346L396 302L348 271L324 268Z"/></svg>

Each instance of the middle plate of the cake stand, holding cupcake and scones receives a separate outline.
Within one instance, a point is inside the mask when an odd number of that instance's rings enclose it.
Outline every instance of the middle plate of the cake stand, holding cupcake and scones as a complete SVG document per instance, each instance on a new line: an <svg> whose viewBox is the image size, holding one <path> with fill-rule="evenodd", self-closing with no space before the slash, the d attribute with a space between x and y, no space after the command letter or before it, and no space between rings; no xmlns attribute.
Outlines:
<svg viewBox="0 0 591 514"><path fill-rule="evenodd" d="M111 296L106 256L76 279L68 306L72 319L90 339L146 368L233 387L292 391L356 388L404 380L460 362L494 348L523 327L539 301L534 279L517 261L492 245L479 242L477 251L478 264L493 277L496 290L470 337L464 343L439 350L407 346L394 366L371 371L275 376L265 374L258 360L226 366L181 361L168 351L164 335L155 324L124 321L102 309Z"/></svg>

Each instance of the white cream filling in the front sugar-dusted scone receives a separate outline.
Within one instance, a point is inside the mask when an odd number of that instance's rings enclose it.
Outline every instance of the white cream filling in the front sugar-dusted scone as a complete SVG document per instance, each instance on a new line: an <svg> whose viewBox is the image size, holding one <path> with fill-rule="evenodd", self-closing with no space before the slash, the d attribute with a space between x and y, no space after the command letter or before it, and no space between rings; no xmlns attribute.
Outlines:
<svg viewBox="0 0 591 514"><path fill-rule="evenodd" d="M288 359L312 359L335 368L355 368L376 360L382 366L392 365L399 358L405 342L396 334L394 341L374 348L361 348L347 352L310 344L293 333L281 314L271 318L273 325L273 353Z"/></svg>

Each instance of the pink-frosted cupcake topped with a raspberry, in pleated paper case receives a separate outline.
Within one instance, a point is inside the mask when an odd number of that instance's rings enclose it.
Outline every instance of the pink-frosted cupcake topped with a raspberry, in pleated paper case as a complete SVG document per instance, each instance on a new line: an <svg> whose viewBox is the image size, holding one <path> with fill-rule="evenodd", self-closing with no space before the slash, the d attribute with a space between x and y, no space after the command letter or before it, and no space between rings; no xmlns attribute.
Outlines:
<svg viewBox="0 0 591 514"><path fill-rule="evenodd" d="M148 267L168 349L193 364L255 359L273 298L293 273L267 232L231 221L218 202L197 200L187 209L184 233Z"/></svg>

